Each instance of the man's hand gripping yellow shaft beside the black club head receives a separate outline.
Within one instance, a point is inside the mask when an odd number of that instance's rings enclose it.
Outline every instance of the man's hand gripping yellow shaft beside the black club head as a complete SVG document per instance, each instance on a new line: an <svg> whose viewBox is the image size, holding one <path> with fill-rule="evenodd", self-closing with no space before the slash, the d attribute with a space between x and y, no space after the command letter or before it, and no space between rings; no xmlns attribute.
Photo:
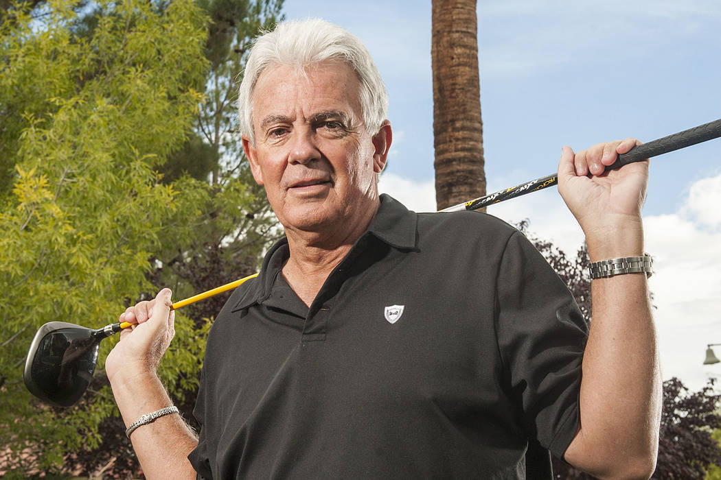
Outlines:
<svg viewBox="0 0 721 480"><path fill-rule="evenodd" d="M120 322L134 325L120 332L120 341L105 361L111 383L118 373L156 373L175 335L171 295L170 289L162 289L154 299L138 302L120 314Z"/></svg>

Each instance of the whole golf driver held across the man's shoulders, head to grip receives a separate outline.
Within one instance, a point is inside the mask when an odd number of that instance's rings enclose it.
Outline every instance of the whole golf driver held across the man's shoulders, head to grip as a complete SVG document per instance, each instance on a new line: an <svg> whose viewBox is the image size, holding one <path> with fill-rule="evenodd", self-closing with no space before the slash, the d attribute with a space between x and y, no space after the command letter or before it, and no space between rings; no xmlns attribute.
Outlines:
<svg viewBox="0 0 721 480"><path fill-rule="evenodd" d="M638 145L629 152L618 155L616 162L607 166L606 171L718 137L721 137L721 119ZM552 173L534 181L529 181L526 184L513 186L510 189L497 191L494 194L448 207L441 210L441 212L476 210L490 204L528 194L531 191L546 189L557 184L557 181L557 173ZM185 305L198 302L209 296L234 289L244 281L257 275L255 273L230 284L191 296L188 299L172 304L172 309L185 307ZM40 330L37 330L27 353L24 373L27 389L35 397L59 407L70 407L75 404L87 390L92 380L100 341L131 325L133 324L128 322L118 322L92 330L67 322L46 323L40 327Z"/></svg>

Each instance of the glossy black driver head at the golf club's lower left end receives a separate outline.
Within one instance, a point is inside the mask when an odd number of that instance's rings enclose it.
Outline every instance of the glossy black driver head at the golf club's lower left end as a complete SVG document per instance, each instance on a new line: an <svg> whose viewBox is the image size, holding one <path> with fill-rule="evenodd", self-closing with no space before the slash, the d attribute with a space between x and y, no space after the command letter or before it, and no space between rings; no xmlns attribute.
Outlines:
<svg viewBox="0 0 721 480"><path fill-rule="evenodd" d="M58 407L76 404L95 371L101 339L94 332L67 322L40 327L27 352L23 373L30 393Z"/></svg>

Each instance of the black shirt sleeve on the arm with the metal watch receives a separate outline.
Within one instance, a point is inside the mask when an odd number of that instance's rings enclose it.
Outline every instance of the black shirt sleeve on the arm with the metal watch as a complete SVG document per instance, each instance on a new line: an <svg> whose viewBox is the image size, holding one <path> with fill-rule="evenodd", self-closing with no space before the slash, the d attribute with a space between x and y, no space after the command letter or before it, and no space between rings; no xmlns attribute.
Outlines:
<svg viewBox="0 0 721 480"><path fill-rule="evenodd" d="M497 339L523 426L558 458L580 422L578 393L588 324L567 286L520 232L497 276Z"/></svg>

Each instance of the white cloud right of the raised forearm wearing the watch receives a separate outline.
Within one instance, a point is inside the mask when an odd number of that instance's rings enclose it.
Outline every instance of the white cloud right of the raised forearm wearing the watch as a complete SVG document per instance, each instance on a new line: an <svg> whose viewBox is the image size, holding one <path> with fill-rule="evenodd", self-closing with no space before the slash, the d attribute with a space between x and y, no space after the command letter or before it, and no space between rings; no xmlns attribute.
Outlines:
<svg viewBox="0 0 721 480"><path fill-rule="evenodd" d="M646 246L655 257L655 320L663 378L698 389L719 365L704 366L708 343L721 343L721 176L689 187L675 214L646 217Z"/></svg>

